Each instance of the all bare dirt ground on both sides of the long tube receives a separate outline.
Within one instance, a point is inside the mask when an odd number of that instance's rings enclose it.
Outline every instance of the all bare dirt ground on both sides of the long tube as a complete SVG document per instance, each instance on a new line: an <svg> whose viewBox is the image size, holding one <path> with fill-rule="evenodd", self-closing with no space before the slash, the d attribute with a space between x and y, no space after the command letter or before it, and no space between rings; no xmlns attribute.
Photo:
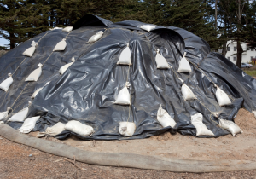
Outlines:
<svg viewBox="0 0 256 179"><path fill-rule="evenodd" d="M241 109L235 120L243 134L212 139L165 133L143 140L80 141L69 138L58 141L73 147L96 152L129 152L178 159L248 159L255 160L256 120L252 113ZM35 136L37 133L32 133ZM86 165L43 153L32 147L0 138L0 178L255 178L256 170L216 173L173 173L160 170L140 170L123 167Z"/></svg>

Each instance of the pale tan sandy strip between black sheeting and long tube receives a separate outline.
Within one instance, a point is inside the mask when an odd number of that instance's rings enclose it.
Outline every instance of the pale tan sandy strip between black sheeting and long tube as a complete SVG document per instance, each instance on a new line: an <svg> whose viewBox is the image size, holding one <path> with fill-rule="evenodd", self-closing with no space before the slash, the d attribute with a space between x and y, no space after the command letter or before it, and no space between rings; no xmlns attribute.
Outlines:
<svg viewBox="0 0 256 179"><path fill-rule="evenodd" d="M70 137L59 141L48 137L49 141L66 143L92 152L137 153L177 159L247 159L256 160L256 119L253 113L241 109L235 119L243 130L236 136L227 135L218 138L197 138L195 136L171 135L169 132L147 139L126 141L81 141ZM36 136L38 132L30 135Z"/></svg>

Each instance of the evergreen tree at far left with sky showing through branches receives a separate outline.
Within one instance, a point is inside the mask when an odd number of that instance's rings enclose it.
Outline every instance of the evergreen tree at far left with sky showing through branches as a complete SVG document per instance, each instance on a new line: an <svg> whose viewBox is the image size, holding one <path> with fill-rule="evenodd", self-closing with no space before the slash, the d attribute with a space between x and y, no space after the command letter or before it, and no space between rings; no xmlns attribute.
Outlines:
<svg viewBox="0 0 256 179"><path fill-rule="evenodd" d="M49 6L36 1L9 1L0 3L0 38L9 40L10 49L46 31Z"/></svg>

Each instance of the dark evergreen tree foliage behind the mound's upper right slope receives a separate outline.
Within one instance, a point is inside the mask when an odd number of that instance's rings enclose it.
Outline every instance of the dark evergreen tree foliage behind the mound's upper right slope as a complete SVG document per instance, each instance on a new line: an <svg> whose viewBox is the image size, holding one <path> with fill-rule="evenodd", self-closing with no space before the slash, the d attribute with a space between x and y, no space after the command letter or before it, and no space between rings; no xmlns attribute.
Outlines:
<svg viewBox="0 0 256 179"><path fill-rule="evenodd" d="M177 26L205 39L212 49L218 49L218 31L214 21L207 21L212 10L208 0L144 0L144 20L162 26Z"/></svg>

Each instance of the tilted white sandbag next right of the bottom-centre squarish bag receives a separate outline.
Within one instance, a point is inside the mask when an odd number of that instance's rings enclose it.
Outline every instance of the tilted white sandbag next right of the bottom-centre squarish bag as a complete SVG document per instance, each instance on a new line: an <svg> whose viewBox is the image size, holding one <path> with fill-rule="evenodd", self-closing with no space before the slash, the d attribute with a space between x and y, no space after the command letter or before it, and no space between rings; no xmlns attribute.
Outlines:
<svg viewBox="0 0 256 179"><path fill-rule="evenodd" d="M176 125L174 119L162 108L162 105L160 105L157 111L157 120L163 127L171 126L173 128Z"/></svg>

